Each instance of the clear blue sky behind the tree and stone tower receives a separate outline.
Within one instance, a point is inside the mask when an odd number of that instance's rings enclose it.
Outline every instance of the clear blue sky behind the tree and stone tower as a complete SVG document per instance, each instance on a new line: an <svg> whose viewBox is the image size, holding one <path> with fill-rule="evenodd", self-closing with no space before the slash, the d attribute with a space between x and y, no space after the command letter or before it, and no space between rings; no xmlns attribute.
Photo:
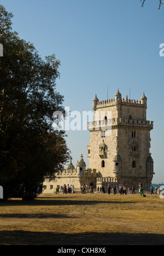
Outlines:
<svg viewBox="0 0 164 256"><path fill-rule="evenodd" d="M63 106L71 112L92 110L92 100L122 97L148 98L147 120L150 153L154 160L153 183L164 182L164 5L158 0L1 0L13 13L13 30L33 43L39 55L55 54L60 60L56 90L64 96ZM164 51L163 51L164 53ZM88 167L90 132L68 130L67 145L72 162L83 154Z"/></svg>

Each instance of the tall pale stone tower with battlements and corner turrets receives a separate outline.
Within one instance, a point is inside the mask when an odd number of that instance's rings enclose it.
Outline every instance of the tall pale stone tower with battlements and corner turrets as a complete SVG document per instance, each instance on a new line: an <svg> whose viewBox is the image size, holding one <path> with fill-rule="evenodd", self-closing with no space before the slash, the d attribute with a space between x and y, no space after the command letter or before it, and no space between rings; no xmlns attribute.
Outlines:
<svg viewBox="0 0 164 256"><path fill-rule="evenodd" d="M96 169L97 186L108 184L138 188L142 182L150 189L153 159L150 153L150 131L147 120L147 97L140 100L122 98L119 89L111 100L93 99L93 122L88 123L90 143L87 145L89 168Z"/></svg>

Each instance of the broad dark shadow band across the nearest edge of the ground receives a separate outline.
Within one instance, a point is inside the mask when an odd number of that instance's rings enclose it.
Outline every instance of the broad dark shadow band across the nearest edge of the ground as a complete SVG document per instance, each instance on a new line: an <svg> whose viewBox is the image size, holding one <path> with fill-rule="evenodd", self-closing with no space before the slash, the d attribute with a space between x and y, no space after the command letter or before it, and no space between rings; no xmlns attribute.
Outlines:
<svg viewBox="0 0 164 256"><path fill-rule="evenodd" d="M125 233L70 233L1 231L0 245L164 245L164 235Z"/></svg>

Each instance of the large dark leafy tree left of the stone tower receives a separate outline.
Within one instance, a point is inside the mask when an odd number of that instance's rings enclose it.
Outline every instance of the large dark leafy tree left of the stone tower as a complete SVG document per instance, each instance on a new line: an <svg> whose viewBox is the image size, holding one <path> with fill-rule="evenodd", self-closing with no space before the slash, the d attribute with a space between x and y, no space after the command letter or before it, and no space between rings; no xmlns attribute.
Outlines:
<svg viewBox="0 0 164 256"><path fill-rule="evenodd" d="M43 60L12 30L12 13L0 5L0 185L4 196L34 199L44 178L55 178L69 159L65 131L52 127L63 96L56 91L60 61Z"/></svg>

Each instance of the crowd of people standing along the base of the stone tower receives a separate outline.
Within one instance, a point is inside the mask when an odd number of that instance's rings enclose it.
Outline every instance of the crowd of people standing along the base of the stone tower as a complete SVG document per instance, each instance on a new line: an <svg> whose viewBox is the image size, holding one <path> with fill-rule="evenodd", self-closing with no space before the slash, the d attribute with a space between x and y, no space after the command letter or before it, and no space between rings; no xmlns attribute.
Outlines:
<svg viewBox="0 0 164 256"><path fill-rule="evenodd" d="M93 185L81 185L81 193L82 194L86 194L86 193L93 193ZM119 184L119 188L116 188L115 185L113 185L113 187L110 186L110 184L108 184L108 187L104 187L104 185L102 187L97 187L97 193L108 193L110 194L111 193L111 190L113 190L113 193L116 194L116 193L120 193L120 195L127 195L127 194L130 194L131 191L132 191L132 194L136 194L136 188L134 187L134 185L132 185L132 187L128 186L126 187L125 184ZM138 184L138 191L140 193L140 195L144 195L143 193L143 185L142 183L140 182ZM58 194L59 192L63 193L63 194L73 194L74 193L74 185L67 185L64 184L63 186L61 185L61 187L57 186L56 187L56 194ZM151 184L150 185L150 192L151 192L151 195L152 194L157 194L157 186L155 187L155 193L154 193L154 188L153 188L153 185Z"/></svg>

